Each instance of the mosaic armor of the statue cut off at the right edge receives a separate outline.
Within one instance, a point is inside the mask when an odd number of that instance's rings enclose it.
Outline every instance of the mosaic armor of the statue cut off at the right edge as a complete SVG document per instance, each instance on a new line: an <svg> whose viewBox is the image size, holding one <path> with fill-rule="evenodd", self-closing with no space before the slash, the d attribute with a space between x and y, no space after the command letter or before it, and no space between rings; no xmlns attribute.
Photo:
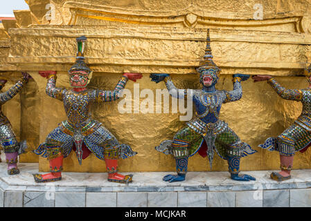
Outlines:
<svg viewBox="0 0 311 221"><path fill-rule="evenodd" d="M294 124L281 135L269 137L259 146L269 151L278 151L281 155L294 155L296 151L302 151L311 142L311 88L287 90L274 78L269 79L268 83L283 99L301 102L303 111Z"/></svg>

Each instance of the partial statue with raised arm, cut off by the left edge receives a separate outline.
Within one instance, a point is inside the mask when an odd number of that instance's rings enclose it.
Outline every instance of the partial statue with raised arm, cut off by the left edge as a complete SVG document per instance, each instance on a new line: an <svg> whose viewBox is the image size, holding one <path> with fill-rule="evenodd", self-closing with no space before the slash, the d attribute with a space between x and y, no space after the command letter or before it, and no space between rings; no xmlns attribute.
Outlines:
<svg viewBox="0 0 311 221"><path fill-rule="evenodd" d="M15 133L12 130L12 126L8 118L3 115L1 111L1 106L12 99L17 93L21 91L21 88L28 82L30 75L28 73L22 73L23 77L21 80L8 89L4 93L0 93L0 142L1 148L4 149L6 154L6 163L8 164L8 174L14 175L19 174L19 169L17 168L17 156L21 153L25 153L26 141L17 142ZM0 79L0 90L6 84L5 79Z"/></svg>

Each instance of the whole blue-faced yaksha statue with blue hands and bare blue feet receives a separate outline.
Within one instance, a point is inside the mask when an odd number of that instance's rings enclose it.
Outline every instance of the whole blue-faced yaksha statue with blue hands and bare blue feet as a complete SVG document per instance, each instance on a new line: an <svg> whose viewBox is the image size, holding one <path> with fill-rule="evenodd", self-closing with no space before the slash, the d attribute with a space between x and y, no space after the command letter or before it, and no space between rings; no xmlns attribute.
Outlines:
<svg viewBox="0 0 311 221"><path fill-rule="evenodd" d="M229 126L219 119L222 104L237 101L242 97L241 81L249 79L249 75L233 75L233 90L216 90L220 75L220 68L213 62L211 53L209 30L204 55L204 64L197 68L202 89L177 89L168 74L151 74L152 81L165 81L166 88L172 97L184 99L191 96L196 114L186 123L184 128L177 132L173 140L166 140L156 147L157 151L172 154L176 160L177 175L166 175L164 181L178 182L186 178L188 157L199 153L202 157L208 156L212 167L214 151L222 159L228 161L231 179L240 181L256 180L250 175L238 175L240 172L240 157L255 153L249 144L240 141L240 138Z"/></svg>

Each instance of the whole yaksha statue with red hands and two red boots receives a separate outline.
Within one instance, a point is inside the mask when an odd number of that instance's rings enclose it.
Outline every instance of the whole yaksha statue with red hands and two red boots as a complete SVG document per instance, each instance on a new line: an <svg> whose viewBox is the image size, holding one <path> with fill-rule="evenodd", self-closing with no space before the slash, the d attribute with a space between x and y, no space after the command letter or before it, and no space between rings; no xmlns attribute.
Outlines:
<svg viewBox="0 0 311 221"><path fill-rule="evenodd" d="M132 175L121 175L117 173L118 158L123 159L136 155L127 144L119 144L116 137L112 135L100 122L91 118L90 106L95 102L112 102L121 97L121 91L130 79L136 81L142 77L141 74L124 73L116 84L114 90L93 90L87 88L91 69L85 64L83 56L87 38L78 37L78 53L75 64L69 70L69 81L72 89L56 88L56 72L40 72L48 77L46 94L61 100L67 120L60 123L52 131L46 141L40 144L34 152L37 155L47 157L50 162L51 173L34 174L35 182L52 182L61 180L63 158L67 157L71 149L75 151L79 164L82 159L93 153L100 160L105 160L108 172L108 181L128 183L132 182Z"/></svg>

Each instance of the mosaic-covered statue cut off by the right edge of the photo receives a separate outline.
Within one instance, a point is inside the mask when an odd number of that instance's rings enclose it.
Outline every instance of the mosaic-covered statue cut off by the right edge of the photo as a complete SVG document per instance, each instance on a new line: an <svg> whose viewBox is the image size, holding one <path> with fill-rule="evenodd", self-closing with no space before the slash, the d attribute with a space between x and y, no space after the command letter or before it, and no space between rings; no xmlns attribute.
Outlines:
<svg viewBox="0 0 311 221"><path fill-rule="evenodd" d="M309 82L308 88L304 89L286 89L270 75L253 76L255 82L267 81L283 99L303 104L303 111L292 126L278 137L269 137L264 144L259 145L261 148L280 153L281 171L271 173L270 177L273 180L289 180L295 152L303 153L311 144L311 65L305 69L304 74Z"/></svg>

